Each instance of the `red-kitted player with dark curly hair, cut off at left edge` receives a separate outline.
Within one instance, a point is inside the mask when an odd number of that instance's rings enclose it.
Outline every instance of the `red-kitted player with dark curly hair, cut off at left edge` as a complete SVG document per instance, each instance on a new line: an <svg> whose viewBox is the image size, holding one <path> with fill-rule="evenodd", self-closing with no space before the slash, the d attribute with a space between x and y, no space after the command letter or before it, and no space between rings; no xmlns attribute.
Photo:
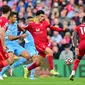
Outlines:
<svg viewBox="0 0 85 85"><path fill-rule="evenodd" d="M10 63L11 59L9 59L8 54L5 52L5 31L8 26L8 17L11 12L11 8L8 5L4 5L1 7L2 16L0 17L0 70Z"/></svg>

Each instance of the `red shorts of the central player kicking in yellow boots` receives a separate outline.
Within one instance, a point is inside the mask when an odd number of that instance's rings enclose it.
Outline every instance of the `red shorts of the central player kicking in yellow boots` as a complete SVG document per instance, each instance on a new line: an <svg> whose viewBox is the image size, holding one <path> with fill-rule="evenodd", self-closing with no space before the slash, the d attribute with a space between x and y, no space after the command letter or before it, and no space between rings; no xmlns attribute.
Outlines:
<svg viewBox="0 0 85 85"><path fill-rule="evenodd" d="M51 43L50 42L49 43L46 43L46 44L45 43L39 43L39 44L37 44L36 45L36 48L37 48L37 50L39 52L39 55L41 55L42 57L46 57L45 49L47 47L51 48Z"/></svg>

